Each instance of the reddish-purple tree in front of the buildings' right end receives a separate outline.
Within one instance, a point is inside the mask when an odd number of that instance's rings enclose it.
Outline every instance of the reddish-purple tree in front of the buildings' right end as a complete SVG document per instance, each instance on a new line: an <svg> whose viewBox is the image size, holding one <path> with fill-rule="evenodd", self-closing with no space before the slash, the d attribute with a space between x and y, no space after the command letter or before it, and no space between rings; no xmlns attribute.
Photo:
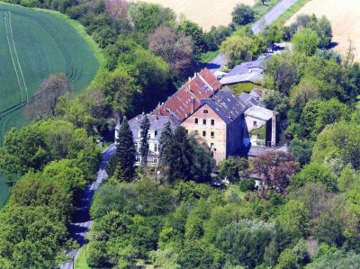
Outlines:
<svg viewBox="0 0 360 269"><path fill-rule="evenodd" d="M262 153L254 160L254 168L259 175L260 197L266 197L266 189L277 190L284 193L290 184L290 177L298 169L298 163L292 154L282 151L269 151Z"/></svg>

